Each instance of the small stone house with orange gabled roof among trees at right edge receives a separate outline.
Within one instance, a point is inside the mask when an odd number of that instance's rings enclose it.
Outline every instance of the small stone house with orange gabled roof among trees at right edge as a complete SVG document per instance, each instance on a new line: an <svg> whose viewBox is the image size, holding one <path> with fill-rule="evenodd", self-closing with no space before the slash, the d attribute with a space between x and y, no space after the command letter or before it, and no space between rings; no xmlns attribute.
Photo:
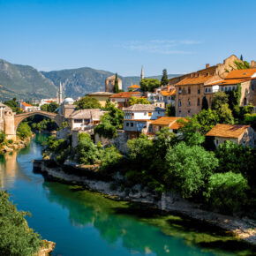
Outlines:
<svg viewBox="0 0 256 256"><path fill-rule="evenodd" d="M227 140L254 147L254 131L250 125L241 124L216 124L215 127L207 132L206 136L214 137L215 147L219 147Z"/></svg>

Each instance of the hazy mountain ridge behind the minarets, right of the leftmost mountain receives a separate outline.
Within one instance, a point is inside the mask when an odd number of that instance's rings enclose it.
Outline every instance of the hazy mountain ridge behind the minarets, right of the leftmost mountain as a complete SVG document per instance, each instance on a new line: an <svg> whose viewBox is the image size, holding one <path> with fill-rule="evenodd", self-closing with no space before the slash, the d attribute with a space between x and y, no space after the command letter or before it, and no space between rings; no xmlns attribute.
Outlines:
<svg viewBox="0 0 256 256"><path fill-rule="evenodd" d="M63 90L65 96L77 98L81 95L88 93L104 91L105 79L114 73L101 70L94 70L92 68L84 67L72 70L62 70L53 72L41 72L46 78L53 81L58 87L59 82L63 84ZM178 76L177 74L170 74L169 79ZM122 79L123 89L127 90L131 84L139 84L139 77L123 77ZM148 77L154 79L161 79L162 76Z"/></svg>

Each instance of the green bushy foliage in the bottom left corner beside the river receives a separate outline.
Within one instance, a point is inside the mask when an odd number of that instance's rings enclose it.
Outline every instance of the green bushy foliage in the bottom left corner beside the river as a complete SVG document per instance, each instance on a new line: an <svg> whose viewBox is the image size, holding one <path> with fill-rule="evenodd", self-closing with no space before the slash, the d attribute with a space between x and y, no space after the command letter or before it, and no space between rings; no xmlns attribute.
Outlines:
<svg viewBox="0 0 256 256"><path fill-rule="evenodd" d="M9 201L7 192L0 191L0 254L35 255L41 246L41 237L29 229L26 212L19 212Z"/></svg>

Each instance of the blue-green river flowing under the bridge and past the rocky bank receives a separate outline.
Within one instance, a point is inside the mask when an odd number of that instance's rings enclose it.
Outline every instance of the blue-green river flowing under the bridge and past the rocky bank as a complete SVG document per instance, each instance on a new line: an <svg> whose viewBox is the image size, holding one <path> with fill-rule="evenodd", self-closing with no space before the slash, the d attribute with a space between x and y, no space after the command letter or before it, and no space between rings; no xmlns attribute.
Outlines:
<svg viewBox="0 0 256 256"><path fill-rule="evenodd" d="M41 159L37 135L18 153L0 155L0 188L31 228L54 241L53 255L251 255L252 248L225 231L177 215L117 202L79 186L46 182L33 172Z"/></svg>

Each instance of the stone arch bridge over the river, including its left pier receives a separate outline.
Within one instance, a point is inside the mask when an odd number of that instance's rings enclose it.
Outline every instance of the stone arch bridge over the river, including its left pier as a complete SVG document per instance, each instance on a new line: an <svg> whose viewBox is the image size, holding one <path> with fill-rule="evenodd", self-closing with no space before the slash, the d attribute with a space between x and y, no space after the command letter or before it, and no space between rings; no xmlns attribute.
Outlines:
<svg viewBox="0 0 256 256"><path fill-rule="evenodd" d="M36 110L36 111L21 113L18 115L14 115L12 116L12 118L8 118L5 120L5 122L7 122L5 127L6 128L8 127L8 129L5 129L5 130L8 130L8 131L5 131L7 138L16 139L16 133L17 133L17 129L19 128L19 124L27 117L32 117L35 115L49 117L49 119L53 120L58 127L61 127L62 123L64 122L63 115L59 115L59 114L51 113L47 111Z"/></svg>

